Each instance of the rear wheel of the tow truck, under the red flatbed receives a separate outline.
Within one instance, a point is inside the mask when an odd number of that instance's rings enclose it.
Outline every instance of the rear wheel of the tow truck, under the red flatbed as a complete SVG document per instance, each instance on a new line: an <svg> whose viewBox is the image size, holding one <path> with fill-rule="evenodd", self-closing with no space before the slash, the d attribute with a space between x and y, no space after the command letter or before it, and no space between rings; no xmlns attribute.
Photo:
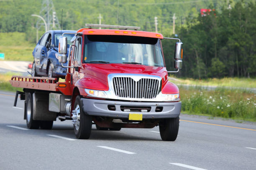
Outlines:
<svg viewBox="0 0 256 170"><path fill-rule="evenodd" d="M26 122L28 129L38 129L40 120L33 120L33 98L29 92L26 100Z"/></svg>

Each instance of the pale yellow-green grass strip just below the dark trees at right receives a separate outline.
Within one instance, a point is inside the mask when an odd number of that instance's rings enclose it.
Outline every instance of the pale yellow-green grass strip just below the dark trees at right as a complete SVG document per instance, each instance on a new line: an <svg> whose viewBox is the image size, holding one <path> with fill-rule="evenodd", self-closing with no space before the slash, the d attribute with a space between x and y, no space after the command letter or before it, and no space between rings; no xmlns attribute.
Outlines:
<svg viewBox="0 0 256 170"><path fill-rule="evenodd" d="M218 87L242 87L242 88L255 88L255 78L238 78L238 77L224 77L224 78L209 78L204 80L196 80L192 78L176 78L171 77L171 82L182 85L195 85L195 86L218 86Z"/></svg>

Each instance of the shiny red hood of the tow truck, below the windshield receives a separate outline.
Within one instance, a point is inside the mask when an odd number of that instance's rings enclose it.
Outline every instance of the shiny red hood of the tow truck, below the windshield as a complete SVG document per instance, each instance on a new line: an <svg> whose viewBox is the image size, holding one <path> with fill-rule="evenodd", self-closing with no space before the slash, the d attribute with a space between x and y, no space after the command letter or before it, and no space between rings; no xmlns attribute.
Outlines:
<svg viewBox="0 0 256 170"><path fill-rule="evenodd" d="M99 87L102 90L108 90L108 75L111 73L123 73L123 74L143 74L143 75L155 75L162 79L162 87L168 82L168 75L165 67L153 67L146 65L136 65L136 64L82 64L82 73L84 77L94 79L95 83L92 83L90 87ZM102 86L102 83L104 84Z"/></svg>

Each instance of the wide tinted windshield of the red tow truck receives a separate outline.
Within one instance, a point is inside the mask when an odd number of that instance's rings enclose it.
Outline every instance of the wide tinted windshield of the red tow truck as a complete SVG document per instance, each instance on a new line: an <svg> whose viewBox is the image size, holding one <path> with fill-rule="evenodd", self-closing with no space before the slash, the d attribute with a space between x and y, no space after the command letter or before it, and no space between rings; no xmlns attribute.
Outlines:
<svg viewBox="0 0 256 170"><path fill-rule="evenodd" d="M119 35L87 35L84 63L128 63L164 67L160 40Z"/></svg>

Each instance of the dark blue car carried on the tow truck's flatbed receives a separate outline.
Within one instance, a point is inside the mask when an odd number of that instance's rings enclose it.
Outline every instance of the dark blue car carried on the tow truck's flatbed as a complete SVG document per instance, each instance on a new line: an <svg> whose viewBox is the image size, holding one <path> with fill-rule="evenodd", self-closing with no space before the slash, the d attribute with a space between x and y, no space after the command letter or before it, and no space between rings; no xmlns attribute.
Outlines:
<svg viewBox="0 0 256 170"><path fill-rule="evenodd" d="M47 76L47 77L61 77L65 78L67 68L61 66L58 60L58 46L59 37L61 33L68 32L74 34L65 34L68 41L68 49L71 44L70 40L74 37L77 31L73 30L49 30L37 42L32 54L34 62L32 65L31 75L36 76ZM67 63L64 64L65 66Z"/></svg>

